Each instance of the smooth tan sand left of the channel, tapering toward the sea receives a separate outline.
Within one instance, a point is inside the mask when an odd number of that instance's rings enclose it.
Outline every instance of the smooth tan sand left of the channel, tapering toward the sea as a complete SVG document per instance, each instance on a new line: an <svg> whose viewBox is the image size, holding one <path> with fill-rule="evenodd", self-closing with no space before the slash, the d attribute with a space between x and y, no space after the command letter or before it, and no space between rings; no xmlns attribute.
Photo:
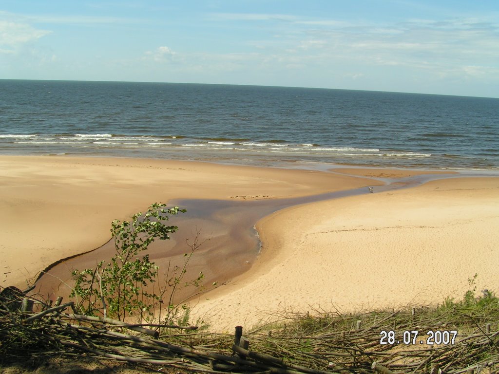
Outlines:
<svg viewBox="0 0 499 374"><path fill-rule="evenodd" d="M46 266L110 239L110 222L173 198L256 199L367 186L314 171L209 163L0 157L0 286L26 286Z"/></svg>

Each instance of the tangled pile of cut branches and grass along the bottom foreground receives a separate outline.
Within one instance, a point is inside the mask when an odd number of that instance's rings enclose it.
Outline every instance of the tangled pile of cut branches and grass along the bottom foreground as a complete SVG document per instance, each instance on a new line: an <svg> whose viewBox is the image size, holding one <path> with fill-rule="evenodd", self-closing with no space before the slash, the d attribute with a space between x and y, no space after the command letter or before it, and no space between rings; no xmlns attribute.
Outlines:
<svg viewBox="0 0 499 374"><path fill-rule="evenodd" d="M70 313L72 303L37 313L12 308L22 298L0 304L4 360L85 355L204 373L499 372L499 305L493 296L438 309L282 315L285 323L236 335L236 341L195 327L131 325ZM427 345L428 331L458 335L453 344ZM419 332L417 340L407 340L407 332Z"/></svg>

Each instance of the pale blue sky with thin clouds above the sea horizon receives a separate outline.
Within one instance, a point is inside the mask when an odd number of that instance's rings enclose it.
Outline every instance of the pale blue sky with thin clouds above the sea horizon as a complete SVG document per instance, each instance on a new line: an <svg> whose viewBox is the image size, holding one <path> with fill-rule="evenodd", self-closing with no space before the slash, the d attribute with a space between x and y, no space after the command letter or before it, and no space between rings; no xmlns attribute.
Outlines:
<svg viewBox="0 0 499 374"><path fill-rule="evenodd" d="M0 78L499 97L499 1L2 0Z"/></svg>

